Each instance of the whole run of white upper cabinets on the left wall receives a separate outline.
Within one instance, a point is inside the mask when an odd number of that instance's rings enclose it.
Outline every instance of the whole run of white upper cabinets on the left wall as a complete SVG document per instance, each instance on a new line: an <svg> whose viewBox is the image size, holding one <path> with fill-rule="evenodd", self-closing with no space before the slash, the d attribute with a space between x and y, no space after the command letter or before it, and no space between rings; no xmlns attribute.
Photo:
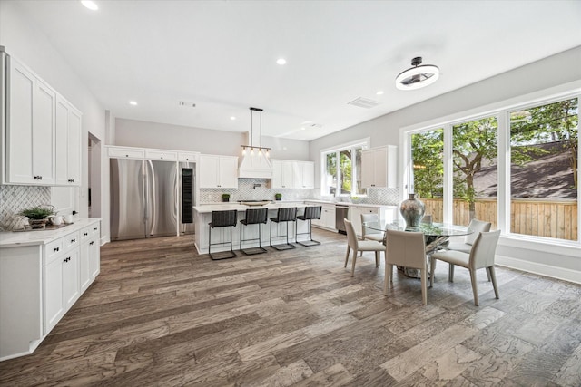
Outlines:
<svg viewBox="0 0 581 387"><path fill-rule="evenodd" d="M3 182L81 184L81 112L24 64L3 54L7 121Z"/></svg>

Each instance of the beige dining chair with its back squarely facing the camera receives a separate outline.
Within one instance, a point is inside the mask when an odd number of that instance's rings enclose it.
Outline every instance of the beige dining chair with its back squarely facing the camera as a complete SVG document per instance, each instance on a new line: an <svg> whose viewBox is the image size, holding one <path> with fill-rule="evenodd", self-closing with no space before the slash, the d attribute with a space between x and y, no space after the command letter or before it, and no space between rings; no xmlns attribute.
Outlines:
<svg viewBox="0 0 581 387"><path fill-rule="evenodd" d="M386 230L384 295L388 295L389 285L393 286L394 265L419 269L421 300L428 305L428 261L424 233Z"/></svg>

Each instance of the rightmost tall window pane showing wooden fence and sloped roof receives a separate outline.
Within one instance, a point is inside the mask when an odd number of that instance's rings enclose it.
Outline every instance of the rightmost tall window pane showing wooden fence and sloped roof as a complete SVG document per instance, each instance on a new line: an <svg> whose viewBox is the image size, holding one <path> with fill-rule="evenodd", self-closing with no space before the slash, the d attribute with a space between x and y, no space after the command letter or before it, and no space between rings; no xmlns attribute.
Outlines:
<svg viewBox="0 0 581 387"><path fill-rule="evenodd" d="M577 99L510 111L510 232L577 240Z"/></svg>

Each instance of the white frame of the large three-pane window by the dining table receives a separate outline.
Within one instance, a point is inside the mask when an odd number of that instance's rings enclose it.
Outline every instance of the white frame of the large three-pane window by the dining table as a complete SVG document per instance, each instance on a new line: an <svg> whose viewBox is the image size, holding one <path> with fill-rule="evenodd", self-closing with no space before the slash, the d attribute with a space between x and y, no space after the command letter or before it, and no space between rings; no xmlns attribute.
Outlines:
<svg viewBox="0 0 581 387"><path fill-rule="evenodd" d="M502 230L502 239L507 240L508 246L522 246L522 243L538 242L541 249L547 249L556 253L554 247L562 247L562 251L570 254L569 249L573 247L575 251L581 247L581 227L577 227L577 240L570 241L552 237L527 236L524 234L511 233L510 230L510 111L517 109L527 109L576 98L581 101L581 82L569 82L547 90L532 92L518 96L509 100L494 102L470 111L461 111L445 117L426 121L423 123L403 127L399 131L402 183L400 185L401 198L406 198L413 166L411 163L411 134L423 131L433 131L439 128L444 129L444 222L452 219L452 127L458 123L475 121L486 117L497 117L497 169L498 169L498 194L497 194L497 222L498 229ZM581 124L577 124L579 132L578 141L581 145ZM578 160L581 160L581 147L578 147ZM581 220L581 184L577 187L577 222Z"/></svg>

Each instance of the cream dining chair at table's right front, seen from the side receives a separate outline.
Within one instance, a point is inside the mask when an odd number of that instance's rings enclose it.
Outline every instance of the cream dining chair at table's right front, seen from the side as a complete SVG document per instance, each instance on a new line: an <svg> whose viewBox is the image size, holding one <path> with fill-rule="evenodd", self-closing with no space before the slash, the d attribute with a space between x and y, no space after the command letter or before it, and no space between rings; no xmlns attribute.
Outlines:
<svg viewBox="0 0 581 387"><path fill-rule="evenodd" d="M480 232L468 254L456 250L438 251L432 254L430 257L432 276L429 278L429 285L434 284L437 260L448 262L450 265L450 270L448 271L448 280L450 282L454 282L454 266L466 267L470 272L472 292L474 293L474 305L478 306L476 271L480 268L486 268L487 274L492 281L494 294L498 298L497 276L494 271L494 257L497 251L498 237L500 237L500 230Z"/></svg>

